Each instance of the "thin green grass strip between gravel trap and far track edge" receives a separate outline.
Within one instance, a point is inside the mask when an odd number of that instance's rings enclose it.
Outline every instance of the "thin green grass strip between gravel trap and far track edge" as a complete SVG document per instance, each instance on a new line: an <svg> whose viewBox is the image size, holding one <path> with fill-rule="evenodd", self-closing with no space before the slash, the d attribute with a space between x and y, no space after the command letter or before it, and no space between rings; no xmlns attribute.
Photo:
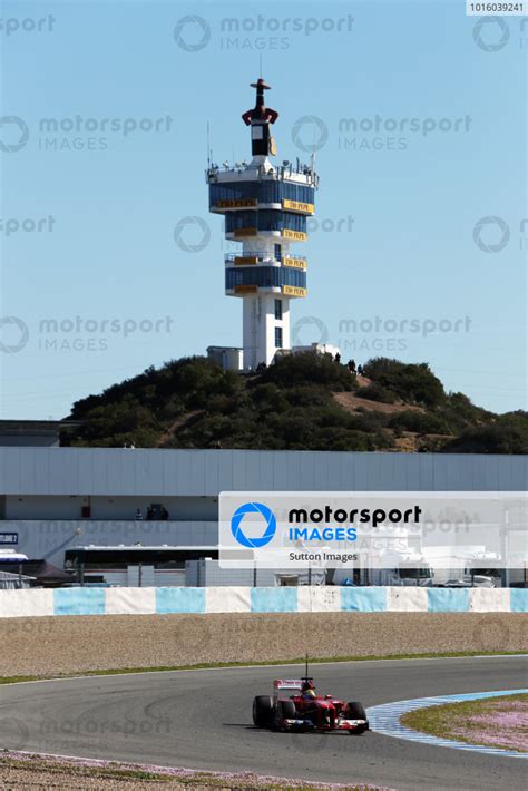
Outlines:
<svg viewBox="0 0 528 791"><path fill-rule="evenodd" d="M526 651L446 651L424 654L370 654L368 656L333 656L310 657L310 664L332 662L373 662L394 660L442 660L466 656L518 656ZM260 662L201 662L194 665L159 665L154 667L110 667L107 670L78 671L77 673L58 673L55 675L13 675L1 676L0 684L16 684L25 681L52 681L53 678L74 678L90 675L125 675L127 673L160 673L169 671L216 670L223 667L273 667L274 665L304 665L304 656L295 660L262 660Z"/></svg>

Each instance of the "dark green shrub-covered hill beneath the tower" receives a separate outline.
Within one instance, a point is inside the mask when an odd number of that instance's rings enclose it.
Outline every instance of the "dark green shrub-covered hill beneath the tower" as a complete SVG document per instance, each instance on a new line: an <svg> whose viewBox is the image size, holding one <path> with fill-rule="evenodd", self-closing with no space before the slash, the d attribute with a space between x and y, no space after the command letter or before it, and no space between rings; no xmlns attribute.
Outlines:
<svg viewBox="0 0 528 791"><path fill-rule="evenodd" d="M69 419L65 442L81 447L528 452L528 412L495 414L426 363L387 358L362 377L311 353L261 374L185 358L77 401Z"/></svg>

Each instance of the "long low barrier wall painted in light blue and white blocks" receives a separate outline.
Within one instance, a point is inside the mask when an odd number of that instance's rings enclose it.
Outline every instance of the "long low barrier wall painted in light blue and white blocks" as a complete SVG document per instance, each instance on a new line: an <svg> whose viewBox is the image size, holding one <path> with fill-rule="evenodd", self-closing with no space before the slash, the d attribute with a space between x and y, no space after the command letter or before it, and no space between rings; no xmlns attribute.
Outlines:
<svg viewBox="0 0 528 791"><path fill-rule="evenodd" d="M0 590L0 618L174 613L527 613L525 588L208 587Z"/></svg>

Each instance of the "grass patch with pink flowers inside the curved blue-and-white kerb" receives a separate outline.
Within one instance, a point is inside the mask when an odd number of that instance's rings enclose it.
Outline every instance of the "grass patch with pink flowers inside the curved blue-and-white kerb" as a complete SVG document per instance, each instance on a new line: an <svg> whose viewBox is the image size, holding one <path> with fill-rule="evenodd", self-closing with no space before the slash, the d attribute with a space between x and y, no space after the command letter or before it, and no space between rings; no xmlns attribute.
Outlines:
<svg viewBox="0 0 528 791"><path fill-rule="evenodd" d="M446 703L444 705L417 709L415 711L403 714L400 722L407 727L421 731L422 733L430 733L432 736L453 739L457 742L465 742L467 744L480 744L482 746L515 750L516 752L525 753L528 752L528 750L512 746L506 733L503 734L503 741L487 740L486 736L482 736L483 725L476 725L471 719L479 714L492 716L493 704L501 702L511 703L514 701L528 703L528 694L498 695L497 697L482 697L475 701Z"/></svg>

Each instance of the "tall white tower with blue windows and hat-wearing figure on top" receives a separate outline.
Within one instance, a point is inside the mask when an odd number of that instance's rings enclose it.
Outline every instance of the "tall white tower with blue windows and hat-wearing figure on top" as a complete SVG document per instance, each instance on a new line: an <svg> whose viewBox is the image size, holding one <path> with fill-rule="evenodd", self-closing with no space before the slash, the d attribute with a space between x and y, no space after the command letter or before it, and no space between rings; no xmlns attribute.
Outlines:
<svg viewBox="0 0 528 791"><path fill-rule="evenodd" d="M252 160L211 165L206 173L209 211L225 216L225 237L242 245L225 256L225 293L242 299L246 371L291 349L290 301L307 293L306 258L296 248L307 238L319 185L313 162L272 164L271 126L278 114L264 104L270 86L261 78L252 87L255 107L242 116L251 130Z"/></svg>

